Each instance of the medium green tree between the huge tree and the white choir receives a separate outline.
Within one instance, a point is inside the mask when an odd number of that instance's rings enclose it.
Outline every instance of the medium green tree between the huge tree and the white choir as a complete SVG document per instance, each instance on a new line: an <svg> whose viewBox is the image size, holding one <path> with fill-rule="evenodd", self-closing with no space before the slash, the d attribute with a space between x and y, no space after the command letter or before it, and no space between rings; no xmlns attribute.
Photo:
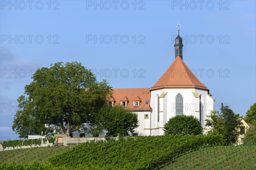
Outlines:
<svg viewBox="0 0 256 170"><path fill-rule="evenodd" d="M90 132L97 134L102 130L107 130L106 136L129 136L134 129L139 127L137 114L122 106L102 107L96 116L93 130Z"/></svg>

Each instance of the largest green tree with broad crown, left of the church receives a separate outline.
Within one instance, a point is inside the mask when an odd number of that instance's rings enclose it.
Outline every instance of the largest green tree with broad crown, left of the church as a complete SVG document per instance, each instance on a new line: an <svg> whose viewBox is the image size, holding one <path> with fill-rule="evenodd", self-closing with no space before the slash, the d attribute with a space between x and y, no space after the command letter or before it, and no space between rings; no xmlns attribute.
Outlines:
<svg viewBox="0 0 256 170"><path fill-rule="evenodd" d="M12 129L20 137L26 137L31 133L41 134L42 129L46 133L42 127L46 124L47 129L57 128L60 133L70 135L93 119L108 96L111 96L108 83L98 82L81 63L57 62L50 68L39 68L18 99L19 109ZM28 130L24 131L26 127Z"/></svg>

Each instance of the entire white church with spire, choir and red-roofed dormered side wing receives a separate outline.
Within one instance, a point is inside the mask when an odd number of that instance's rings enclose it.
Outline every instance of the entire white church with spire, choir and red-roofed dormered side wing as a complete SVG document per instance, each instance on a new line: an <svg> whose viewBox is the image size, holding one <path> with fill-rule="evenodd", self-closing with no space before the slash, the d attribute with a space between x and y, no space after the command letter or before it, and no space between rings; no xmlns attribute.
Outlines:
<svg viewBox="0 0 256 170"><path fill-rule="evenodd" d="M183 61L183 44L175 39L175 59L151 88L113 89L109 105L122 105L138 115L139 127L132 136L163 135L163 126L176 115L193 115L204 129L207 115L214 110L215 100L207 88Z"/></svg>

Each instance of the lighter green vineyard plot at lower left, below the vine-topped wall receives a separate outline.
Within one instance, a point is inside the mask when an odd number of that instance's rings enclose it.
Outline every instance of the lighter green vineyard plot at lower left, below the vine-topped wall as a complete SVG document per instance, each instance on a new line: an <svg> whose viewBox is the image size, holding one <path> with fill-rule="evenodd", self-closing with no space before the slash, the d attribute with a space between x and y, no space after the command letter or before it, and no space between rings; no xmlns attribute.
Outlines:
<svg viewBox="0 0 256 170"><path fill-rule="evenodd" d="M54 156L58 153L64 153L70 150L68 147L34 147L26 149L4 150L0 152L0 162L47 162L50 156Z"/></svg>

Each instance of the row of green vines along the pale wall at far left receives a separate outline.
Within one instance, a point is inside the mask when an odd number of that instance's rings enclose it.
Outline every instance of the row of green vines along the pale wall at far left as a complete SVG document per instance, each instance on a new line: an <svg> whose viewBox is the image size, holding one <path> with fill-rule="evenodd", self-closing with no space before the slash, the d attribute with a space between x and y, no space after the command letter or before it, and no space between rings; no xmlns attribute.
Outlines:
<svg viewBox="0 0 256 170"><path fill-rule="evenodd" d="M7 140L7 141L3 141L2 143L0 143L3 147L3 149L5 149L6 147L13 147L13 149L15 147L22 147L22 146L32 146L33 144L36 145L41 145L42 142L43 144L45 144L46 142L49 143L53 143L55 142L55 137L49 137L47 139L26 139L26 140Z"/></svg>

